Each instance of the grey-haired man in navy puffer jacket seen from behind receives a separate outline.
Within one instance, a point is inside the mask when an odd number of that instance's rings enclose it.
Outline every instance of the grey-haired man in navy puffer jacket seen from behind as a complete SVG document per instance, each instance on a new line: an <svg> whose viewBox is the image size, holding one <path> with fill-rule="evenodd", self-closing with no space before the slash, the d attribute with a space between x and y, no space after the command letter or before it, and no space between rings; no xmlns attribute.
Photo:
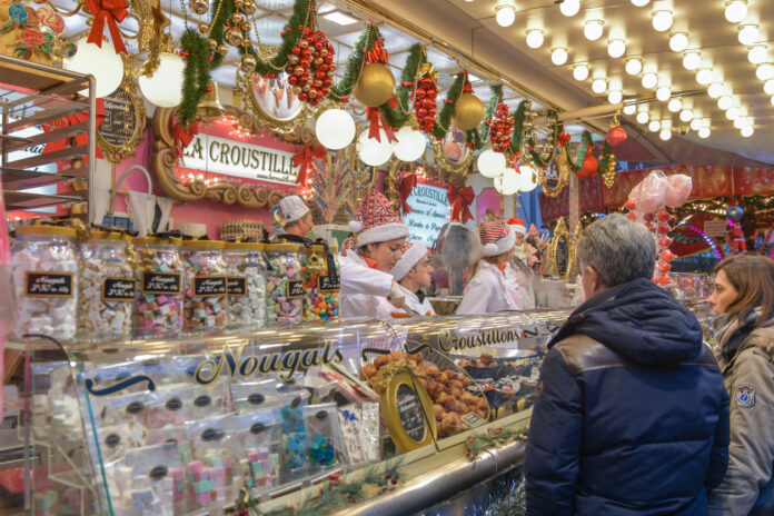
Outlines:
<svg viewBox="0 0 774 516"><path fill-rule="evenodd" d="M651 282L643 225L607 216L577 255L587 300L540 369L527 515L706 515L728 460L728 395L702 328Z"/></svg>

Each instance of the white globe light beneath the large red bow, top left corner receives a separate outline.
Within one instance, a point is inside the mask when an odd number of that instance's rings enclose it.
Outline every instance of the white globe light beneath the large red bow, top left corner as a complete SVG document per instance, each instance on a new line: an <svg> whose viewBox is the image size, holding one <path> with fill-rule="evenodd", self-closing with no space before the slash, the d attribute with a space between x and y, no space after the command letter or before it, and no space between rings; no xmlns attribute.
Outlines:
<svg viewBox="0 0 774 516"><path fill-rule="evenodd" d="M76 54L64 59L62 66L66 70L95 76L95 96L107 97L123 80L123 60L109 42L103 41L100 48L86 39L85 36L78 40ZM85 89L79 93L87 96L89 90Z"/></svg>

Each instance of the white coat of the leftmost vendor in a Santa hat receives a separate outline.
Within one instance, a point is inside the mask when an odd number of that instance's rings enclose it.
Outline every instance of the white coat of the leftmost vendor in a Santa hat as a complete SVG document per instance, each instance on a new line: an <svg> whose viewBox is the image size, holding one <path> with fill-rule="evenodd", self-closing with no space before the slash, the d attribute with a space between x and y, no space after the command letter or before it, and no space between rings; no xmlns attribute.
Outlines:
<svg viewBox="0 0 774 516"><path fill-rule="evenodd" d="M339 255L338 260L341 277L340 318L388 319L393 305L387 296L393 288L393 275L371 269L354 249L349 249L347 256Z"/></svg>

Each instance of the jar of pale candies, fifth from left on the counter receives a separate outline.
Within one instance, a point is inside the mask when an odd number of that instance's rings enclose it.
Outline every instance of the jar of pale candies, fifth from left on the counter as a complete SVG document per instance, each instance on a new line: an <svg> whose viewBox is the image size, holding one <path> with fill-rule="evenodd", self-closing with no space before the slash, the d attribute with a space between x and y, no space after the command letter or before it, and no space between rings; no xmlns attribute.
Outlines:
<svg viewBox="0 0 774 516"><path fill-rule="evenodd" d="M226 244L229 327L266 324L266 265L262 244Z"/></svg>

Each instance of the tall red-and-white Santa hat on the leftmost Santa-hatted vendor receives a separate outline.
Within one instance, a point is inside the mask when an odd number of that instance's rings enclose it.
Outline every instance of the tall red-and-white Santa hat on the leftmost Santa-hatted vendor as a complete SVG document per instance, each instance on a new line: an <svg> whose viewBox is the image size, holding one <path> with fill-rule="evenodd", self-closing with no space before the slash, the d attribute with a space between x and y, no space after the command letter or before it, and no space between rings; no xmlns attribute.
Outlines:
<svg viewBox="0 0 774 516"><path fill-rule="evenodd" d="M378 190L366 194L357 208L357 215L360 220L350 221L349 230L358 234L358 247L408 237L408 226L403 224L387 198Z"/></svg>

